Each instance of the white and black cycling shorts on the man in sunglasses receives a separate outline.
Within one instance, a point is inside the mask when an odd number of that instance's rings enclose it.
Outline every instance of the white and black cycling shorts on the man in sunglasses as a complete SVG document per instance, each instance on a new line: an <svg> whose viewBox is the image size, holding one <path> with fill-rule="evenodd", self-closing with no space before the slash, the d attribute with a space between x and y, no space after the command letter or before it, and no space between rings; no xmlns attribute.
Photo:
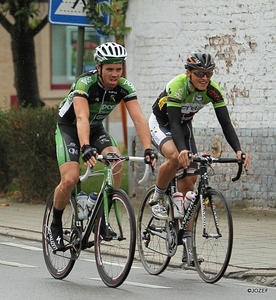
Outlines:
<svg viewBox="0 0 276 300"><path fill-rule="evenodd" d="M163 155L161 151L162 146L165 142L172 140L170 124L168 122L164 123L161 120L158 120L154 114L151 114L149 118L149 128L153 145ZM181 129L187 150L192 151L194 154L197 153L192 122L188 121L182 123Z"/></svg>

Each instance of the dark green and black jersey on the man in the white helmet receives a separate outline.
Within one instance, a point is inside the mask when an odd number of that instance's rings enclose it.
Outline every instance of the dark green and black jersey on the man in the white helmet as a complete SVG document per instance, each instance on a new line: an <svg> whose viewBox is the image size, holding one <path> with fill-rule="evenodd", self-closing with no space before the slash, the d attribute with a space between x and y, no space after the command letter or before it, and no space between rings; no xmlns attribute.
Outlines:
<svg viewBox="0 0 276 300"><path fill-rule="evenodd" d="M123 100L137 99L133 84L121 77L118 85L112 90L105 90L98 80L96 70L82 74L72 84L68 95L59 106L58 123L75 124L76 115L73 107L75 96L86 98L90 109L90 127L100 125L111 111Z"/></svg>

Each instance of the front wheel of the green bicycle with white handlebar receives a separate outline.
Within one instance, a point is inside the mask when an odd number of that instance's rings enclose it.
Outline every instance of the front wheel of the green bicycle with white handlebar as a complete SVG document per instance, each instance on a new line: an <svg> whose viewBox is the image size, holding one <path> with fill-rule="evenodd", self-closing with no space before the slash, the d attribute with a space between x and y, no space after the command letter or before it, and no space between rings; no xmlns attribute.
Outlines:
<svg viewBox="0 0 276 300"><path fill-rule="evenodd" d="M128 195L110 189L109 226L115 236L105 237L103 207L95 227L95 258L99 275L109 287L121 285L131 269L136 241L135 214ZM104 225L105 227L105 225Z"/></svg>

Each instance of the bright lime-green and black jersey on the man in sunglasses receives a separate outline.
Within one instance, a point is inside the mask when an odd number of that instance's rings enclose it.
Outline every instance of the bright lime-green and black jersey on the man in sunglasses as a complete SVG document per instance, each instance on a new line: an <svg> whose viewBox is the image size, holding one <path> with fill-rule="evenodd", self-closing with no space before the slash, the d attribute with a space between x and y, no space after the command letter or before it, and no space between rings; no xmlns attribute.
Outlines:
<svg viewBox="0 0 276 300"><path fill-rule="evenodd" d="M179 107L182 122L189 121L206 104L212 103L214 108L226 106L223 94L216 82L211 80L205 91L197 91L186 74L173 78L153 104L153 113L159 120L169 121L167 106Z"/></svg>

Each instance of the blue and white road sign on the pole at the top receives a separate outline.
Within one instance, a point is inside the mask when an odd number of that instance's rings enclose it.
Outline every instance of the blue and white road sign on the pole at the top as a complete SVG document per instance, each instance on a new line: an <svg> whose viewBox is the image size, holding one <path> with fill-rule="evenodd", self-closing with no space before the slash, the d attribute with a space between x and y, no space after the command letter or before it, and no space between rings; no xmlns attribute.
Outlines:
<svg viewBox="0 0 276 300"><path fill-rule="evenodd" d="M50 0L48 20L54 25L76 25L91 27L84 11L87 0ZM98 0L108 1L111 0ZM110 24L110 16L103 14L104 23Z"/></svg>

